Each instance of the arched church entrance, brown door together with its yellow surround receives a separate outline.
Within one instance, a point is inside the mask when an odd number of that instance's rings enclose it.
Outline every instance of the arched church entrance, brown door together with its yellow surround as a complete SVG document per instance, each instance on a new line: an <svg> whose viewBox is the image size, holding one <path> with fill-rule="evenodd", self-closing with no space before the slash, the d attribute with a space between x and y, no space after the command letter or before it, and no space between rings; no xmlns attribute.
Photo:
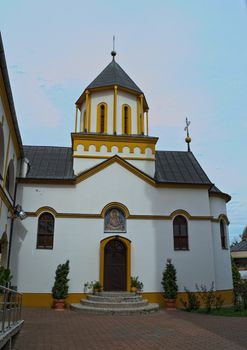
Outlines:
<svg viewBox="0 0 247 350"><path fill-rule="evenodd" d="M102 240L100 246L100 282L104 290L130 290L130 240L111 236Z"/></svg>

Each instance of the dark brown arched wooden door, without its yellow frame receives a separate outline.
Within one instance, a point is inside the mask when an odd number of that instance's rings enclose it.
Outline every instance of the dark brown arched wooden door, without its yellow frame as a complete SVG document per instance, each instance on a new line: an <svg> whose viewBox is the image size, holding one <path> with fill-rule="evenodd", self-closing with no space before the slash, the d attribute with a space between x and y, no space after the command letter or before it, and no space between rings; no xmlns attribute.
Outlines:
<svg viewBox="0 0 247 350"><path fill-rule="evenodd" d="M104 290L127 289L127 249L119 239L110 240L104 248Z"/></svg>

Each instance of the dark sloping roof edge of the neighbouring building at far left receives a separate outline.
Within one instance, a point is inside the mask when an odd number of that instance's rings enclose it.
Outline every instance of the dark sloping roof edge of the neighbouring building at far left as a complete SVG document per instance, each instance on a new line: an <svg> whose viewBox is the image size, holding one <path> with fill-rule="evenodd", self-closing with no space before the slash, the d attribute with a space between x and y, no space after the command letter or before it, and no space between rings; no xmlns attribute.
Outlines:
<svg viewBox="0 0 247 350"><path fill-rule="evenodd" d="M15 113L15 105L14 105L13 95L12 95L10 81L9 81L9 74L8 74L7 63L6 63L5 54L4 54L4 47L3 47L1 32L0 32L0 68L3 74L4 85L5 85L8 101L9 101L9 107L10 107L10 112L11 112L11 116L12 116L12 120L15 128L17 141L20 147L21 155L23 155L21 134L19 131L19 126L18 126L17 117Z"/></svg>

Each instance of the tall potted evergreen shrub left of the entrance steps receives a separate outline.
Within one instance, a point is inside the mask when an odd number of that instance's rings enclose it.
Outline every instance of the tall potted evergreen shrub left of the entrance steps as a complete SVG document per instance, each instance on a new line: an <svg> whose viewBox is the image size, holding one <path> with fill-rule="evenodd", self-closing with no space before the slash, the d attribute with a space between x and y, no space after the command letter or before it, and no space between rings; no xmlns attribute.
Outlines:
<svg viewBox="0 0 247 350"><path fill-rule="evenodd" d="M55 310L64 310L65 299L69 290L69 260L65 264L58 265L56 269L55 282L52 287Z"/></svg>

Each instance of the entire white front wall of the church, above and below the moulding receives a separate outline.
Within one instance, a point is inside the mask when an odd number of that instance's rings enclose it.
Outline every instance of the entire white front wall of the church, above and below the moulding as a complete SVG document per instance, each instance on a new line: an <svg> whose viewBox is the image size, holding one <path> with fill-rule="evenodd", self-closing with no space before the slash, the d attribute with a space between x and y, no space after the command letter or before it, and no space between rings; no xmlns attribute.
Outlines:
<svg viewBox="0 0 247 350"><path fill-rule="evenodd" d="M193 290L195 283L210 287L215 281L220 289L232 286L225 267L229 266L229 254L217 260L217 270L214 267L213 246L219 242L213 240L207 189L155 188L114 163L76 186L22 184L18 200L27 212L49 206L58 213L53 250L36 249L38 217L16 223L12 254L17 259L12 270L22 292L49 293L56 266L66 259L71 266L71 293L82 293L85 282L99 279L100 241L112 234L104 233L103 218L96 215L111 202L120 202L129 210L127 233L121 235L131 240L131 275L140 277L144 292L161 291L167 258L177 269L181 292L184 286ZM191 216L188 251L173 249L171 214L178 209ZM95 217L72 218L69 213ZM134 215L138 219L131 217Z"/></svg>

